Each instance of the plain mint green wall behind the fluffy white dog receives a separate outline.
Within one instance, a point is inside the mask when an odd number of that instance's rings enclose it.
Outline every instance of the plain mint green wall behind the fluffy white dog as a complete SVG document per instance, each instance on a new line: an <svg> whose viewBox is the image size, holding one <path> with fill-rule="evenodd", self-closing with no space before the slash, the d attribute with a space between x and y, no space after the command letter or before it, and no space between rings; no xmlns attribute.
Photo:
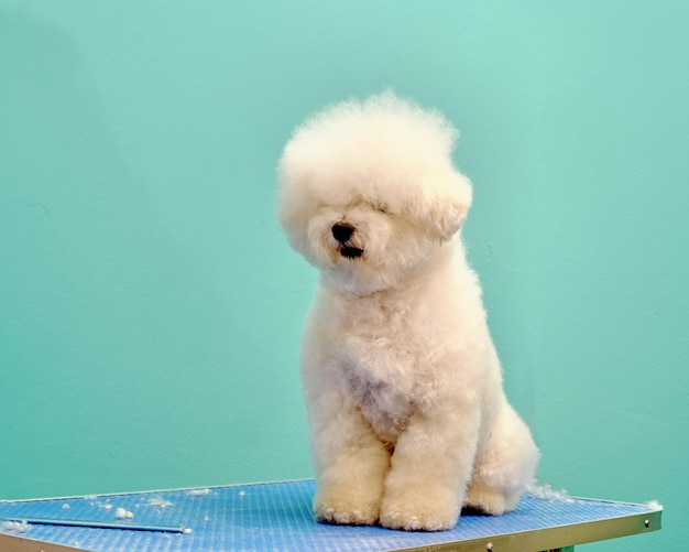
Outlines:
<svg viewBox="0 0 689 552"><path fill-rule="evenodd" d="M689 2L0 0L0 498L307 477L274 167L394 87L462 131L513 402L572 495L689 516Z"/></svg>

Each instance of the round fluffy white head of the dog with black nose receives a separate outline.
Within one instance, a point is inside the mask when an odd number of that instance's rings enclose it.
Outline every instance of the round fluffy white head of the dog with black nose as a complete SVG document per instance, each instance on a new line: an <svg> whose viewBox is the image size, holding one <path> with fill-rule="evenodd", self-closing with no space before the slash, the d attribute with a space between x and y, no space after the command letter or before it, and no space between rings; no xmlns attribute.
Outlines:
<svg viewBox="0 0 689 552"><path fill-rule="evenodd" d="M325 109L280 162L292 247L352 293L395 285L463 223L471 184L452 165L457 131L387 91Z"/></svg>

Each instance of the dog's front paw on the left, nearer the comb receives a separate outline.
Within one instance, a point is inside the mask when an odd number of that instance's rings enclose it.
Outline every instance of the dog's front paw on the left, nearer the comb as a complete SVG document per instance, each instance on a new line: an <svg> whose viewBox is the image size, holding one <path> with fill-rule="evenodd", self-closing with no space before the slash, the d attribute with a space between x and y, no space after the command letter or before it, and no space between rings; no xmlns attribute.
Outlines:
<svg viewBox="0 0 689 552"><path fill-rule="evenodd" d="M367 493L365 489L328 488L314 498L314 513L321 523L346 526L372 526L381 510L381 493Z"/></svg>

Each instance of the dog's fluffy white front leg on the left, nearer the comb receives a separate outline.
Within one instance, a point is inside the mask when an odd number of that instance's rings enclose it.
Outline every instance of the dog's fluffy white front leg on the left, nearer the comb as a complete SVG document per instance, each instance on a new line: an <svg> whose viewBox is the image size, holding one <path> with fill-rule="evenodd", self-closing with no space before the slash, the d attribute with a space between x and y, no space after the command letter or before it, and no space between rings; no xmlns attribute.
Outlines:
<svg viewBox="0 0 689 552"><path fill-rule="evenodd" d="M316 469L314 512L326 523L374 524L390 453L371 425L342 398L325 393L309 413Z"/></svg>

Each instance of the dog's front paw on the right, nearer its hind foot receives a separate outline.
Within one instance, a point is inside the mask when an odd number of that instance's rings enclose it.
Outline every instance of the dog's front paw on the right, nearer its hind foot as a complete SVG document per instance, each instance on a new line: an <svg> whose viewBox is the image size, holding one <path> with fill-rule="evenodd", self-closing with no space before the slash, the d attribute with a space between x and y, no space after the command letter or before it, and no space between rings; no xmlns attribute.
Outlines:
<svg viewBox="0 0 689 552"><path fill-rule="evenodd" d="M455 500L407 495L383 500L380 523L405 531L446 531L455 527L458 518L459 507Z"/></svg>

